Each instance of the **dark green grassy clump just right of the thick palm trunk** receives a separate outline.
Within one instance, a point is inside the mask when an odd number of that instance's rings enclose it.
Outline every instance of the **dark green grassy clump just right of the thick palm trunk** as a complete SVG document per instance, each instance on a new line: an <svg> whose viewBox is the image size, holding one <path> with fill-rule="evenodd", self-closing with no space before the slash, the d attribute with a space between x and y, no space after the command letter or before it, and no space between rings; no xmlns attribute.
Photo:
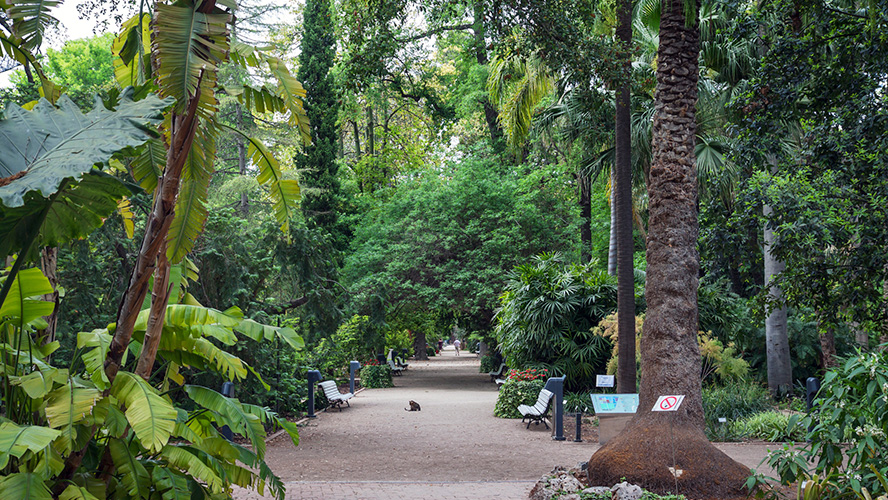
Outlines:
<svg viewBox="0 0 888 500"><path fill-rule="evenodd" d="M703 388L703 414L706 419L706 434L710 438L724 434L724 426L718 423L719 417L733 422L771 408L768 390L751 382Z"/></svg>

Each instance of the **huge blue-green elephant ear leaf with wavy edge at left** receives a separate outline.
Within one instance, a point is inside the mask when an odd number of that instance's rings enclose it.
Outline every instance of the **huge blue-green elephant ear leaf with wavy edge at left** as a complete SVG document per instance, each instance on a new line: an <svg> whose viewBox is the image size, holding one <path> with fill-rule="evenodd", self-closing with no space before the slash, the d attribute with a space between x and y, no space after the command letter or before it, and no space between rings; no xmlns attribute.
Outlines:
<svg viewBox="0 0 888 500"><path fill-rule="evenodd" d="M15 104L0 117L0 259L23 248L34 231L39 246L88 235L117 207L127 189L93 168L155 136L170 100L102 105L83 114L67 97L41 100L31 111Z"/></svg>

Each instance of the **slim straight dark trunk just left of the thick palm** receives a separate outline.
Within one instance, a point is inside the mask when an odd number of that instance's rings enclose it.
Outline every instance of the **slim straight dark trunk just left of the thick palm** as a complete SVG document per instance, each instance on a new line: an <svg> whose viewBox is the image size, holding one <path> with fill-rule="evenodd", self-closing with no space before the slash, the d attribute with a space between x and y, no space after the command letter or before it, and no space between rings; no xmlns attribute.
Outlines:
<svg viewBox="0 0 888 500"><path fill-rule="evenodd" d="M635 278L632 263L632 149L629 78L632 43L632 0L617 3L617 41L622 57L622 80L616 91L614 117L614 209L617 227L617 392L635 393Z"/></svg>

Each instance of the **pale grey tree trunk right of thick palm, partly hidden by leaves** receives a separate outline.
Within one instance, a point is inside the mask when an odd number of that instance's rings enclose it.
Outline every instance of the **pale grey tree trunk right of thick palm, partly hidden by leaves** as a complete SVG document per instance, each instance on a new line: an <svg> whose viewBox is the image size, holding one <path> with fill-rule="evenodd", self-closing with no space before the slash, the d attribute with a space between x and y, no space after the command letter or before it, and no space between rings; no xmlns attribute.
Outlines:
<svg viewBox="0 0 888 500"><path fill-rule="evenodd" d="M777 159L773 155L769 158L771 172L776 173ZM765 220L771 215L771 207L765 205L762 213ZM768 287L768 296L780 307L771 311L765 319L765 356L768 361L768 389L772 396L782 396L792 390L792 361L789 355L789 337L786 333L786 306L782 304L783 290L772 284L774 276L783 272L786 265L771 254L771 248L776 243L774 231L765 224L764 230L765 248L765 283Z"/></svg>

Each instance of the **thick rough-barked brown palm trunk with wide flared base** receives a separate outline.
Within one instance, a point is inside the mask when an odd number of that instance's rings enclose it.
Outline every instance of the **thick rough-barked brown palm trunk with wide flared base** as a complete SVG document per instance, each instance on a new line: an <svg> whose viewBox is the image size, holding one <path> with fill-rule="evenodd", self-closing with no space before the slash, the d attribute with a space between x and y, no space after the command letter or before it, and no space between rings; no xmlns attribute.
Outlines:
<svg viewBox="0 0 888 500"><path fill-rule="evenodd" d="M592 485L626 480L657 493L726 499L744 496L750 471L712 446L704 433L694 158L699 50L696 19L688 25L682 1L664 0L648 186L640 405L626 429L589 460L588 475ZM677 411L651 411L663 395L685 399ZM683 472L673 474L669 467Z"/></svg>

